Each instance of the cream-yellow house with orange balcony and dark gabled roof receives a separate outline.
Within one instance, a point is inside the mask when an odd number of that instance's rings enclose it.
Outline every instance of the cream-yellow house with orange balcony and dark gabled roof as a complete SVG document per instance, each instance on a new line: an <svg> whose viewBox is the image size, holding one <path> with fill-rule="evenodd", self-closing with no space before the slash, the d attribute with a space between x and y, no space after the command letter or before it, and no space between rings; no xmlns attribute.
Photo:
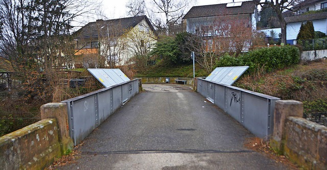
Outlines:
<svg viewBox="0 0 327 170"><path fill-rule="evenodd" d="M154 47L156 35L147 16L89 22L75 33L75 65L117 67Z"/></svg>

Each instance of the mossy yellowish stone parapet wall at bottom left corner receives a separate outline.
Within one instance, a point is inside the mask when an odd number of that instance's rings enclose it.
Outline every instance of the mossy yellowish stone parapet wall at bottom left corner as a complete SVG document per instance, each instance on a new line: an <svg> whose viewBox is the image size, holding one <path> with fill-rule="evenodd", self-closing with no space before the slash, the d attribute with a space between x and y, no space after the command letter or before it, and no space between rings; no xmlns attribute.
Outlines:
<svg viewBox="0 0 327 170"><path fill-rule="evenodd" d="M0 137L0 169L43 169L62 155L56 119Z"/></svg>

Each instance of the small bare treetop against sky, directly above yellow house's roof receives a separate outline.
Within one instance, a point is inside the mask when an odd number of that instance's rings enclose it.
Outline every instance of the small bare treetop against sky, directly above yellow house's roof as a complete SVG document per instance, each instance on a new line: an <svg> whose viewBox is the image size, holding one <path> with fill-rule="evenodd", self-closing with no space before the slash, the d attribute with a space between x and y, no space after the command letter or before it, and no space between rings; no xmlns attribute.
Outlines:
<svg viewBox="0 0 327 170"><path fill-rule="evenodd" d="M129 0L126 4L128 9L127 15L141 16L145 15L145 2L144 0Z"/></svg>

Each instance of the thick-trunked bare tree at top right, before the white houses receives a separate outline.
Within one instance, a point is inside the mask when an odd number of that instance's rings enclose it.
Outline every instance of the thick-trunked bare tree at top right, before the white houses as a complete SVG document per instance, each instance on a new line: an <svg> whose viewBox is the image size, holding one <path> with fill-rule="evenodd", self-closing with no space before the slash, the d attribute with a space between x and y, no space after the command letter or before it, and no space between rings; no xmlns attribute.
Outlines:
<svg viewBox="0 0 327 170"><path fill-rule="evenodd" d="M260 2L258 0L258 4L262 7L265 5L266 7L271 7L277 15L278 21L281 24L281 43L286 44L286 21L285 17L283 16L283 12L289 10L296 12L300 9L300 3L303 0L271 0L266 2ZM293 8L294 5L298 5L297 8Z"/></svg>

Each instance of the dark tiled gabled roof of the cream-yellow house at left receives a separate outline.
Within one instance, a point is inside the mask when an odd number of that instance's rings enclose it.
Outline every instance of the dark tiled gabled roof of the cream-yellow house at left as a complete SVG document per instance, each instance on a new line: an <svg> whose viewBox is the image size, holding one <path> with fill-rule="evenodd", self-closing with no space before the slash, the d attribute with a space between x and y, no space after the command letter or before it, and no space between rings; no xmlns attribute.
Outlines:
<svg viewBox="0 0 327 170"><path fill-rule="evenodd" d="M150 26L150 29L154 32L154 28L151 25L149 18L146 15L142 15L142 16L135 16L135 17L127 17L127 18L109 19L109 20L98 19L96 22L87 23L87 25L79 29L77 32L75 32L75 34L78 35L79 38L98 37L99 35L100 36L107 35L108 33L107 28L115 27L117 28L118 32L114 34L120 36L124 34L126 30L135 27L143 19L145 19L145 21ZM102 31L101 34L99 33L99 30Z"/></svg>

